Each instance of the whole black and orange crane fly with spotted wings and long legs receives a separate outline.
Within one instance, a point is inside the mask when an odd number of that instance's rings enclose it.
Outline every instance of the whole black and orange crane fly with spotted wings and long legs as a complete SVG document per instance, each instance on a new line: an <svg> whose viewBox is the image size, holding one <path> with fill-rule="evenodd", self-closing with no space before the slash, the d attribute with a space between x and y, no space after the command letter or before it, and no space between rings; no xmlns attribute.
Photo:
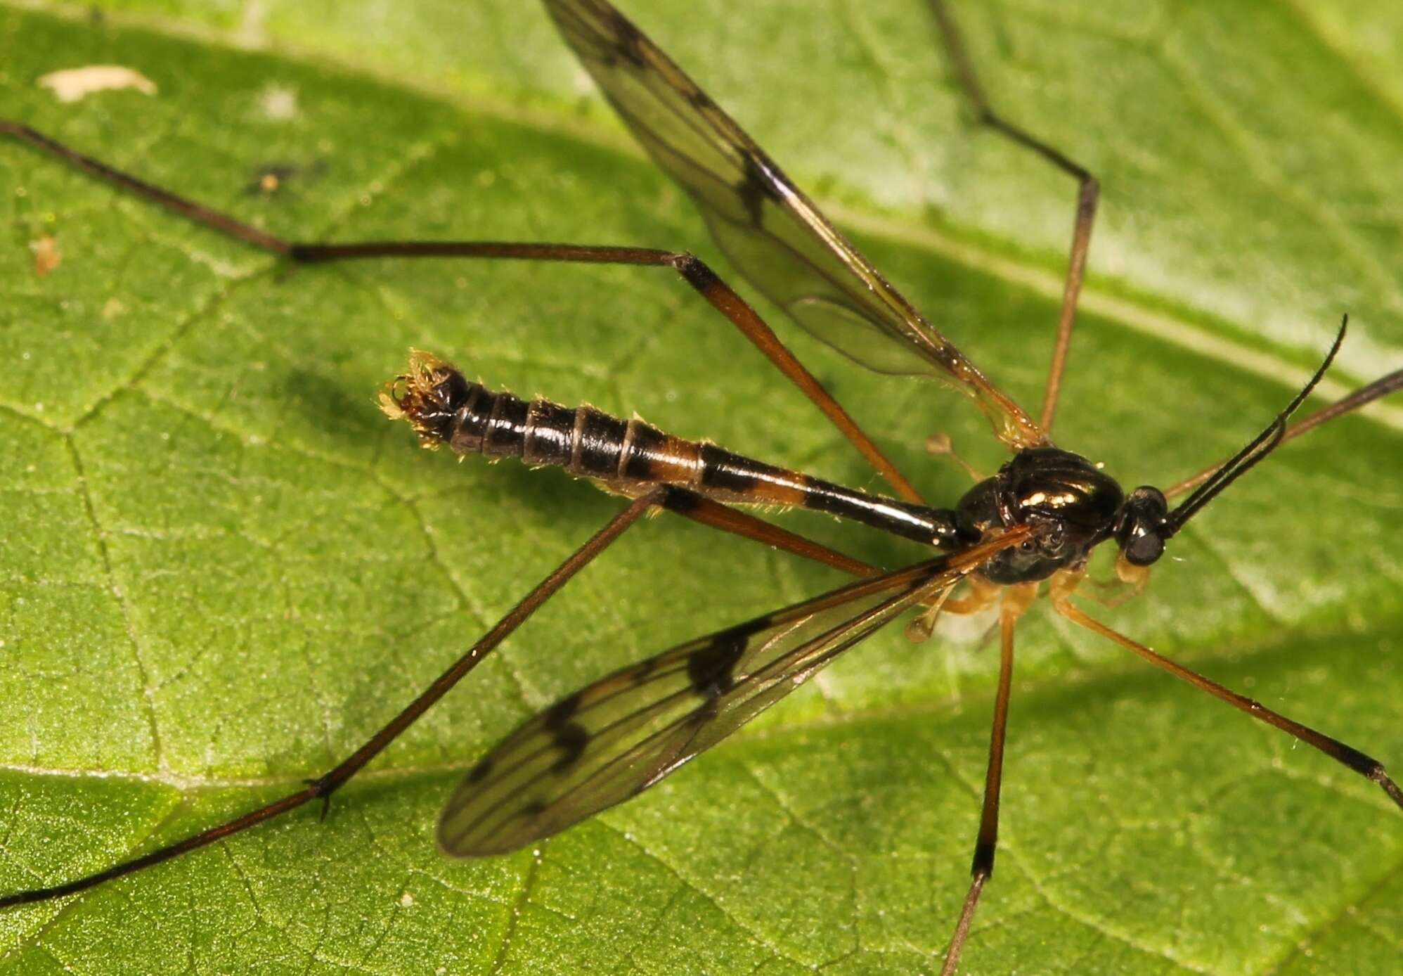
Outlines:
<svg viewBox="0 0 1403 976"><path fill-rule="evenodd" d="M491 628L459 661L349 758L306 789L105 871L0 896L14 906L73 895L281 816L331 793L389 746L575 573L647 511L662 508L702 525L788 550L846 572L854 581L723 628L616 671L561 699L481 757L438 826L455 857L516 850L565 830L647 789L808 681L838 654L881 628L918 614L929 635L940 614L998 614L1000 667L982 813L964 907L943 972L953 973L969 937L998 850L999 791L1012 694L1014 628L1047 584L1055 612L1131 650L1169 674L1295 736L1375 782L1400 807L1403 792L1383 765L1358 750L1204 678L1087 615L1073 597L1094 548L1113 542L1128 594L1148 580L1183 525L1285 441L1403 386L1389 374L1305 420L1296 409L1324 375L1344 338L1308 383L1233 456L1166 490L1124 490L1086 458L1051 440L1062 374L1099 199L1085 167L1006 122L989 107L958 31L940 3L933 13L951 66L979 119L1078 183L1069 264L1052 367L1037 416L998 389L918 312L784 176L780 167L652 41L605 0L544 0L567 44L654 161L702 212L720 250L751 286L838 352L877 372L936 379L968 396L1012 458L979 477L955 504L927 504L847 411L784 347L716 271L683 251L513 242L297 243L269 235L140 178L108 167L20 122L0 133L196 223L299 263L375 257L459 257L669 267L730 320L793 382L890 484L891 494L847 489L803 472L665 433L634 417L588 406L521 399L470 382L431 352L380 395L425 447L459 455L515 456L589 479L627 506ZM1177 499L1177 501L1174 501ZM738 506L800 508L860 522L934 550L881 570Z"/></svg>

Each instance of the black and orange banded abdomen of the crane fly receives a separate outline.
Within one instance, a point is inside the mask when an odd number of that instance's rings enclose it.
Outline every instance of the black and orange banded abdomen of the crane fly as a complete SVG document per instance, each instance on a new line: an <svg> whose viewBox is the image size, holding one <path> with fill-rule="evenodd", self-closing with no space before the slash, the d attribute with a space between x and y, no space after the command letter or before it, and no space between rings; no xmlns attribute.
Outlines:
<svg viewBox="0 0 1403 976"><path fill-rule="evenodd" d="M825 511L930 545L955 541L948 510L845 489L672 437L637 417L622 420L591 406L490 390L424 352L414 354L410 371L390 383L380 403L391 417L405 417L425 447L446 444L457 454L554 465L624 494L672 484L716 501Z"/></svg>

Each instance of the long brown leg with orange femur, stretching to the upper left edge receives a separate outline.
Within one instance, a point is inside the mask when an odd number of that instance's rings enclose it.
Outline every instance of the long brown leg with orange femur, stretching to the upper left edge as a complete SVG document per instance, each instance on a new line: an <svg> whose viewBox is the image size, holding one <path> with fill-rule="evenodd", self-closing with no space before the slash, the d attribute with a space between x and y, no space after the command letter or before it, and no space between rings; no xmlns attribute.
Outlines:
<svg viewBox="0 0 1403 976"><path fill-rule="evenodd" d="M902 499L922 504L920 494L897 466L881 452L857 421L843 410L842 404L824 389L814 375L780 341L755 309L727 285L711 268L694 254L666 251L652 247L612 247L591 244L532 244L515 242L429 242L429 240L379 240L356 243L292 242L250 226L220 211L154 187L137 177L116 170L90 156L84 156L63 143L18 122L0 119L0 136L11 136L34 149L81 170L88 176L109 183L135 197L178 213L201 226L217 230L254 247L279 254L289 260L314 264L321 261L344 261L352 258L383 257L466 257L518 261L560 261L572 264L634 264L645 267L669 267L682 275L699 295L731 324L741 330L800 392L817 406L825 417L856 447L868 463L887 479Z"/></svg>

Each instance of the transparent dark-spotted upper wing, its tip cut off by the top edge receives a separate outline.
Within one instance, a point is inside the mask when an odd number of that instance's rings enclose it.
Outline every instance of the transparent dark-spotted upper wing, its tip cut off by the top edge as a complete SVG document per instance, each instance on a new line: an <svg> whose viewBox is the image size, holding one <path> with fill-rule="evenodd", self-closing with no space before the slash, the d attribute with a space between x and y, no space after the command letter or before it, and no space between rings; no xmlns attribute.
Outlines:
<svg viewBox="0 0 1403 976"><path fill-rule="evenodd" d="M1047 444L1028 414L926 322L672 60L605 0L544 0L652 159L696 199L746 279L838 351L933 375L974 397L1013 448Z"/></svg>

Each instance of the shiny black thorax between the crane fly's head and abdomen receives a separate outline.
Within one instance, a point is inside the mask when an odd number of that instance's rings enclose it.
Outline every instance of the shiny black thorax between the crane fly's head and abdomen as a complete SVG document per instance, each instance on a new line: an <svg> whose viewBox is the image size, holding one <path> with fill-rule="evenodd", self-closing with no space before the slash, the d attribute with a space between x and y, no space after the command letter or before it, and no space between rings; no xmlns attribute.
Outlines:
<svg viewBox="0 0 1403 976"><path fill-rule="evenodd" d="M1031 525L1034 535L1005 549L979 572L992 583L1034 583L1086 563L1115 534L1125 493L1086 458L1059 448L1024 448L955 506L960 535Z"/></svg>

